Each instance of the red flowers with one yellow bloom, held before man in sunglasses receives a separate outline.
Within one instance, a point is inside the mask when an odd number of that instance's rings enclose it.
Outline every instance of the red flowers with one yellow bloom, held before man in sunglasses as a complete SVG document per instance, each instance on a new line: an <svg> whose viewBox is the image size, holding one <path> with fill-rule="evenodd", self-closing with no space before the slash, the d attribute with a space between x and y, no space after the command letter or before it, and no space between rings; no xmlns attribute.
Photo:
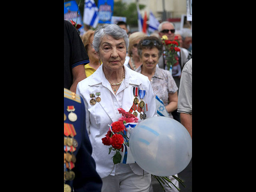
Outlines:
<svg viewBox="0 0 256 192"><path fill-rule="evenodd" d="M178 37L174 38L174 41L168 40L168 37L166 35L163 35L162 43L165 47L165 60L167 64L167 69L170 70L178 62L178 54L177 52L180 51Z"/></svg>

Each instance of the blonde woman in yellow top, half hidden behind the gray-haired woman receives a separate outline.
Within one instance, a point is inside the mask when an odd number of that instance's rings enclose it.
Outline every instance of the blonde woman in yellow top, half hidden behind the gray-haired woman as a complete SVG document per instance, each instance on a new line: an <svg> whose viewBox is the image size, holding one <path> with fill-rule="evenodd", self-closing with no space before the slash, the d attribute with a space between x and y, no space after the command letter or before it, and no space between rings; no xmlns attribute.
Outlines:
<svg viewBox="0 0 256 192"><path fill-rule="evenodd" d="M92 41L93 41L94 31L88 30L85 34L82 36L82 42L84 44L84 47L87 51L87 54L89 56L90 63L84 66L86 77L93 74L101 65L101 61L99 60L96 51L92 47Z"/></svg>

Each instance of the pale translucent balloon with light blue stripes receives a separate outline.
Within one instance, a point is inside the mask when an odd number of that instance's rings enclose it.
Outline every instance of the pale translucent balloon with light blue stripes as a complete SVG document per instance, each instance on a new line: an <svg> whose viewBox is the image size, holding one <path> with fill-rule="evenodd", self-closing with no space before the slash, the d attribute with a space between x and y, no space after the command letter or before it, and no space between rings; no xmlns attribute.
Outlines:
<svg viewBox="0 0 256 192"><path fill-rule="evenodd" d="M192 158L192 139L178 121L163 116L145 119L132 130L130 150L135 162L156 176L180 173Z"/></svg>

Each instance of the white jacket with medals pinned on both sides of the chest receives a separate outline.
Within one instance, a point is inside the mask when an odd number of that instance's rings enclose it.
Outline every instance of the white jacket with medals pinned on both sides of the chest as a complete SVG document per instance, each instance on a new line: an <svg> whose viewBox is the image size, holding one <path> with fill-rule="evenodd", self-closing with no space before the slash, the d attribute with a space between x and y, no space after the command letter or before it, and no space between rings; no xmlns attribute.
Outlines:
<svg viewBox="0 0 256 192"><path fill-rule="evenodd" d="M132 107L134 87L146 91L143 98L143 101L148 106L146 118L157 116L154 92L148 77L131 70L127 66L124 66L124 71L125 78L117 90L116 95L104 75L103 65L91 76L79 82L76 89L76 93L80 94L86 106L86 129L92 143L92 157L96 162L96 170L101 178L108 176L113 171L114 163L112 156L115 154L114 151L108 154L109 146L102 144L102 138L108 132L108 125L118 121L122 116L117 109L123 108L128 112ZM96 93L100 93L99 97L101 100L92 105L90 104L90 100L92 99L90 94L94 94L94 99L96 99L98 97ZM138 96L138 99L139 101L141 100L140 96ZM140 113L138 111L136 112L138 113L139 122L142 121L140 119ZM136 163L129 164L129 166L137 175L146 173Z"/></svg>

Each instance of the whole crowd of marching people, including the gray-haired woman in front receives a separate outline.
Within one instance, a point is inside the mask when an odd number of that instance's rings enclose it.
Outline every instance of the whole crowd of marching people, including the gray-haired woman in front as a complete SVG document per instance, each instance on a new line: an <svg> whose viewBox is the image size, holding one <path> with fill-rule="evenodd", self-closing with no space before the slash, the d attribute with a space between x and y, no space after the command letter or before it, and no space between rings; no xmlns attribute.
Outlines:
<svg viewBox="0 0 256 192"><path fill-rule="evenodd" d="M166 66L160 39L163 35L171 41L177 36L180 42L172 74ZM190 37L176 32L174 24L166 21L150 36L143 32L129 34L125 22L98 25L96 30L88 29L79 36L74 26L64 20L64 189L66 184L68 190L70 186L78 192L152 192L151 174L136 162L114 164L114 152L109 154L108 146L102 144L108 125L120 118L118 108L129 111L133 106L134 97L138 96L134 88L145 92L146 118L159 116L157 98L164 104L166 116L181 122L192 138L192 34ZM67 94L67 90L71 93ZM65 93L70 100L80 99L83 117L67 114L74 113L74 109L65 106ZM83 141L81 146L78 143L76 176L70 182L65 178L71 171L65 169L65 123L73 124L78 119L83 122L79 121L75 129L86 130L86 145ZM90 155L86 164L79 159L84 154ZM92 170L90 178L81 173L85 165ZM179 186L177 180L172 182ZM168 186L165 190L177 191Z"/></svg>

